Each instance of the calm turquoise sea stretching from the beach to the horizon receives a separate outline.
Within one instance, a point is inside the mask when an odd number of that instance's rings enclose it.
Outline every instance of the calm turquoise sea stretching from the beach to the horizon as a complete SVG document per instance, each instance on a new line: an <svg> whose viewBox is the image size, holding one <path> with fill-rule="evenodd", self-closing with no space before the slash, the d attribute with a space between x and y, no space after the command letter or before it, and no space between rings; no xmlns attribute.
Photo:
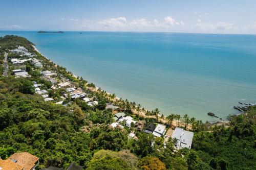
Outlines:
<svg viewBox="0 0 256 170"><path fill-rule="evenodd" d="M146 109L215 120L256 102L256 36L186 33L0 32L27 37L47 58Z"/></svg>

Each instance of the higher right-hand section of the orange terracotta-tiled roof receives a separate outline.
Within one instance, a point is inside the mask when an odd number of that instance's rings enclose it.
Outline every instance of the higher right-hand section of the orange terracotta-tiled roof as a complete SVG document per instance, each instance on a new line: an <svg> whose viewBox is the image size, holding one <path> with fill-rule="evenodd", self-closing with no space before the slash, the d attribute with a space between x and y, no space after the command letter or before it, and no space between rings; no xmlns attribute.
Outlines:
<svg viewBox="0 0 256 170"><path fill-rule="evenodd" d="M39 158L27 152L15 153L8 159L12 161L15 160L17 164L24 167L24 170L32 169L32 167L34 167L36 162L39 160Z"/></svg>

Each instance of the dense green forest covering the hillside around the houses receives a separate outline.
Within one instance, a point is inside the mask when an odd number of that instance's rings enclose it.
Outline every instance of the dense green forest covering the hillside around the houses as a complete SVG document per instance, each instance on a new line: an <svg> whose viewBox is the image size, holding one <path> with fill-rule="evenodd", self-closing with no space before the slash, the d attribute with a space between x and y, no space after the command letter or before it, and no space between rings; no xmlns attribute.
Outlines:
<svg viewBox="0 0 256 170"><path fill-rule="evenodd" d="M0 37L2 54L15 45L33 51L26 38ZM228 125L196 129L191 149L175 151L172 139L164 144L163 137L138 131L138 140L129 139L131 129L111 128L113 114L104 109L108 101L104 96L97 95L97 107L81 100L66 107L45 102L35 94L32 81L40 82L47 90L51 83L42 80L37 70L30 67L27 64L30 78L0 77L2 159L14 152L29 152L40 158L37 169L50 165L66 168L71 162L83 169L256 169L255 106L247 113L229 116ZM76 81L77 86L83 87L86 82L73 78L63 67L54 67L52 63L47 67ZM60 94L61 90L49 90L55 99ZM125 112L130 114L128 110ZM158 121L146 120L152 119Z"/></svg>

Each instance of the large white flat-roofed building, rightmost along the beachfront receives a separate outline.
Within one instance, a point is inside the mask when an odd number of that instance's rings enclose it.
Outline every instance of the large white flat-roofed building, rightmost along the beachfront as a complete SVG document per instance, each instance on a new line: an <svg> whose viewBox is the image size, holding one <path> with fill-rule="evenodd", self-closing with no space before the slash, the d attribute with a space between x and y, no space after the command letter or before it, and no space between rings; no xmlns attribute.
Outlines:
<svg viewBox="0 0 256 170"><path fill-rule="evenodd" d="M173 139L176 138L178 140L177 144L175 145L176 149L182 149L182 148L190 149L193 141L193 136L194 136L193 132L189 132L182 128L176 127L171 137Z"/></svg>

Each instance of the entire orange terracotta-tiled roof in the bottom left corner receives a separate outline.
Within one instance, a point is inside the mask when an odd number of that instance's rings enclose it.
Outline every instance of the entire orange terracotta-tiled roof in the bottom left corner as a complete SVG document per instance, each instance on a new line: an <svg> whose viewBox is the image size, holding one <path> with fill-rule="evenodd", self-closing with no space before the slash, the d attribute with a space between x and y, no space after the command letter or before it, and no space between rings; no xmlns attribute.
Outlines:
<svg viewBox="0 0 256 170"><path fill-rule="evenodd" d="M0 158L1 170L34 170L39 164L39 158L28 152L14 153L6 160Z"/></svg>

